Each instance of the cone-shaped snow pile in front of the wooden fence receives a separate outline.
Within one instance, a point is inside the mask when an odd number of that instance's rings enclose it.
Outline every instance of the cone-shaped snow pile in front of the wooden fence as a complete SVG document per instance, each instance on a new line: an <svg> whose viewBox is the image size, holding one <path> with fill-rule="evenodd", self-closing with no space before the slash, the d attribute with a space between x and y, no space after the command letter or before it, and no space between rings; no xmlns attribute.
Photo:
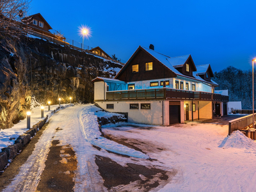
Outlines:
<svg viewBox="0 0 256 192"><path fill-rule="evenodd" d="M234 131L222 141L219 147L223 148L246 148L256 150L256 143L246 137L241 131Z"/></svg>

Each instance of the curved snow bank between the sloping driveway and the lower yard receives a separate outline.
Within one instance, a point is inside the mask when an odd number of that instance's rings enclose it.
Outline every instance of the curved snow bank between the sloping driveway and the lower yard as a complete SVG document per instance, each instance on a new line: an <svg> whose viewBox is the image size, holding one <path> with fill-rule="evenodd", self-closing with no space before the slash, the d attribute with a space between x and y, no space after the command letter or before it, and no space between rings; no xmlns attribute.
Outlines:
<svg viewBox="0 0 256 192"><path fill-rule="evenodd" d="M108 140L101 135L99 131L99 124L97 122L97 115L110 117L113 115L120 115L118 113L108 113L106 111L101 111L100 108L97 108L94 105L86 106L79 113L79 120L81 120L81 128L84 134L86 141L97 147L104 148L111 152L116 152L118 154L127 155L131 157L138 157L142 159L149 159L146 154L143 154L140 151L134 150L133 148L120 145L115 141ZM122 116L122 115L121 115Z"/></svg>

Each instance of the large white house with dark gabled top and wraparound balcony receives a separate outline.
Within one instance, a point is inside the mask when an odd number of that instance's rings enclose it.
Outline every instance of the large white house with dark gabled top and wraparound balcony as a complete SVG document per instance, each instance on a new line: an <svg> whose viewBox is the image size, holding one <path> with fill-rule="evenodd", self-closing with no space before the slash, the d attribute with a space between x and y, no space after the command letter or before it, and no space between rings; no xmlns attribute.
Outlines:
<svg viewBox="0 0 256 192"><path fill-rule="evenodd" d="M94 101L128 122L171 125L224 115L228 96L214 93L209 64L195 65L190 54L170 57L138 47L115 79L96 77ZM223 109L226 108L226 109Z"/></svg>

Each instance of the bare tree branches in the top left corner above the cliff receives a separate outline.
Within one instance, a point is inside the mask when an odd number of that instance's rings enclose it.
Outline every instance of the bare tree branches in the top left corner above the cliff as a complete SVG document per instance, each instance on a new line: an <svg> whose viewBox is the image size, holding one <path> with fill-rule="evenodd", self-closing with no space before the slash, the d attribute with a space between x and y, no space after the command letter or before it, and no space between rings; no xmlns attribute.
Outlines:
<svg viewBox="0 0 256 192"><path fill-rule="evenodd" d="M22 18L26 17L31 0L0 0L0 31L20 31Z"/></svg>

